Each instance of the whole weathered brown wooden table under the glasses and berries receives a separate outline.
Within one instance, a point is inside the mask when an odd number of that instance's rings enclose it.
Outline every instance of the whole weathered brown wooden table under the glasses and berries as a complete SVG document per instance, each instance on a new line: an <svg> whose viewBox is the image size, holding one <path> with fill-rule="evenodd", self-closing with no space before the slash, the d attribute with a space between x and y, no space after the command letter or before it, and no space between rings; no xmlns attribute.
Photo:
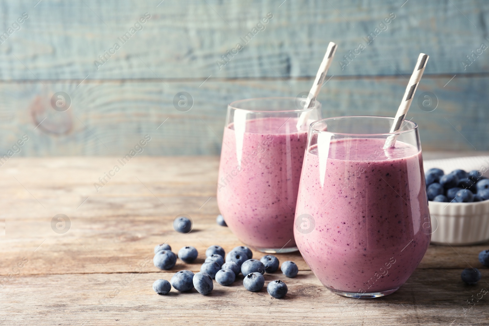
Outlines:
<svg viewBox="0 0 489 326"><path fill-rule="evenodd" d="M271 298L265 288L248 292L241 282L228 287L215 283L207 296L175 289L156 295L156 279L170 280L181 269L199 271L207 246L220 244L229 251L241 244L215 222L218 158L136 156L96 192L93 183L115 164L117 157L16 158L1 167L1 325L489 323L489 294L467 305L483 288L489 289L489 270L477 260L487 243L431 245L409 280L379 299L331 293L298 253L277 255L299 265L296 278L265 275L267 282L285 279L285 299ZM194 220L190 234L172 228L180 213ZM69 217L66 233L51 228L57 214ZM159 271L151 260L154 246L164 241L174 251L195 246L197 262L178 261L172 271ZM477 285L460 279L469 265L482 272Z"/></svg>

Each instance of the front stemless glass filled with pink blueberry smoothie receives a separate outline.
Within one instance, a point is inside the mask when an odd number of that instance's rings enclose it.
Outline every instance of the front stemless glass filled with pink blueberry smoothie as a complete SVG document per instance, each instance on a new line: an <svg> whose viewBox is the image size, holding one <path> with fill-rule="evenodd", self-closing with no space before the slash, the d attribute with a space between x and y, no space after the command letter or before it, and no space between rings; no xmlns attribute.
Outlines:
<svg viewBox="0 0 489 326"><path fill-rule="evenodd" d="M346 116L309 129L294 236L319 281L339 295L393 293L431 239L418 126L405 120L388 133L393 121ZM384 150L390 135L395 146Z"/></svg>

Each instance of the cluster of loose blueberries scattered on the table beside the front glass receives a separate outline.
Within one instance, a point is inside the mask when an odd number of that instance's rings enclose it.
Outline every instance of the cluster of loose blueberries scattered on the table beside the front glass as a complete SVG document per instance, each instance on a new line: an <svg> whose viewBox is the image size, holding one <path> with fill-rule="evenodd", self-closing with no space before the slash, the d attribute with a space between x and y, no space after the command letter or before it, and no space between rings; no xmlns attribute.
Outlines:
<svg viewBox="0 0 489 326"><path fill-rule="evenodd" d="M178 251L178 258L191 263L197 259L198 252L192 246L186 246ZM277 257L266 255L260 260L252 259L253 253L248 247L239 246L225 255L224 249L219 245L213 245L205 251L206 259L200 272L194 274L188 270L182 270L167 280L156 280L153 289L157 294L167 294L172 286L180 292L195 289L203 295L209 294L214 288L212 279L221 285L232 284L238 275L244 275L243 285L248 291L260 291L265 285L265 272L273 273L278 269ZM225 262L224 262L224 256ZM155 247L153 263L162 270L168 270L177 263L177 255L172 252L170 245L163 243ZM299 271L292 261L284 261L281 266L282 273L287 277L295 277ZM287 284L275 280L267 285L267 292L274 298L283 298L287 294Z"/></svg>

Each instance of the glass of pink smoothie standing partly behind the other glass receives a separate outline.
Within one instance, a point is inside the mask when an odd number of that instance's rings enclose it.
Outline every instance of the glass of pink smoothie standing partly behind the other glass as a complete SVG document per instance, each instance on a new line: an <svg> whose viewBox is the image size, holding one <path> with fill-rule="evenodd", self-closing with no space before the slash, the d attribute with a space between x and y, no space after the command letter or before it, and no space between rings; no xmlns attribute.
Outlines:
<svg viewBox="0 0 489 326"><path fill-rule="evenodd" d="M293 224L307 133L321 118L319 102L302 107L297 98L270 97L236 101L227 109L219 210L238 239L262 252L297 250Z"/></svg>

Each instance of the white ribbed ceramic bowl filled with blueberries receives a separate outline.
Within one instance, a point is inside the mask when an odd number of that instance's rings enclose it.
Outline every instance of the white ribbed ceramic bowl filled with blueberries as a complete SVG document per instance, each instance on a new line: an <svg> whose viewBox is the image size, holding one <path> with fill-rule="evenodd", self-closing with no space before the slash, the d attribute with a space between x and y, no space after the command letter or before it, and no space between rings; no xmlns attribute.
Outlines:
<svg viewBox="0 0 489 326"><path fill-rule="evenodd" d="M462 169L425 173L431 217L431 242L469 245L489 240L489 179Z"/></svg>

